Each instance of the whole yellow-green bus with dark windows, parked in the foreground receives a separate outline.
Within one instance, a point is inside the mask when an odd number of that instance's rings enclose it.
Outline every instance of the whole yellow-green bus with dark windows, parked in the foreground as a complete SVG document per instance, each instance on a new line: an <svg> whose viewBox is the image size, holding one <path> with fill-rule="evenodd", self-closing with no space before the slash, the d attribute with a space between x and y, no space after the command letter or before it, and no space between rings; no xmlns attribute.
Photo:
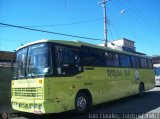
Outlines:
<svg viewBox="0 0 160 119"><path fill-rule="evenodd" d="M16 51L12 107L47 114L93 105L154 88L152 59L80 41L40 40Z"/></svg>

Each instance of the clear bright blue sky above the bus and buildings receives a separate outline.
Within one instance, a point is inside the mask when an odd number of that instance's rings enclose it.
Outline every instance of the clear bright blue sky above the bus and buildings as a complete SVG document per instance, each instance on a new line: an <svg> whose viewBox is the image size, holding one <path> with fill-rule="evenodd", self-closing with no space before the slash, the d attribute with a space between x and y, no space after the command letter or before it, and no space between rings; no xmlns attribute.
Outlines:
<svg viewBox="0 0 160 119"><path fill-rule="evenodd" d="M101 1L0 0L0 23L103 40ZM108 41L127 38L136 51L160 55L160 0L108 0L106 7ZM0 51L41 39L103 43L0 25Z"/></svg>

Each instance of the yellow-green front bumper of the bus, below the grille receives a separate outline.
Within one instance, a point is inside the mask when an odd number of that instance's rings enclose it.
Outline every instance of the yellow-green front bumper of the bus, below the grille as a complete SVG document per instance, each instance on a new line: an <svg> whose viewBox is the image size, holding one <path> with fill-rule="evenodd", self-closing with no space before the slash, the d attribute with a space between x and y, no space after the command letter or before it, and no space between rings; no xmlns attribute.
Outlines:
<svg viewBox="0 0 160 119"><path fill-rule="evenodd" d="M12 98L12 108L21 112L35 114L56 113L56 106L51 100Z"/></svg>

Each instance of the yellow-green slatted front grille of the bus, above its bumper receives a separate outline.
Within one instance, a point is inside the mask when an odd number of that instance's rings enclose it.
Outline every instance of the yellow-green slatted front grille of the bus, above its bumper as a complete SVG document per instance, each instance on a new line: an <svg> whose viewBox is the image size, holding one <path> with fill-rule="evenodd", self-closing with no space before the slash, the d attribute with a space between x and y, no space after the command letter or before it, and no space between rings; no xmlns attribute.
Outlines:
<svg viewBox="0 0 160 119"><path fill-rule="evenodd" d="M42 87L12 88L12 96L42 98Z"/></svg>

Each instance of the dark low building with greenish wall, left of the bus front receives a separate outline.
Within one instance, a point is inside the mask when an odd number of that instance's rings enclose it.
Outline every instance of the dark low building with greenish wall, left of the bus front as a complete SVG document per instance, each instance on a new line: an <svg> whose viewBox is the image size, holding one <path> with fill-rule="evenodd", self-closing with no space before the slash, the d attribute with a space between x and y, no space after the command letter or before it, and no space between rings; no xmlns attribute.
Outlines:
<svg viewBox="0 0 160 119"><path fill-rule="evenodd" d="M0 107L10 105L11 80L13 79L12 62L15 52L0 51Z"/></svg>

